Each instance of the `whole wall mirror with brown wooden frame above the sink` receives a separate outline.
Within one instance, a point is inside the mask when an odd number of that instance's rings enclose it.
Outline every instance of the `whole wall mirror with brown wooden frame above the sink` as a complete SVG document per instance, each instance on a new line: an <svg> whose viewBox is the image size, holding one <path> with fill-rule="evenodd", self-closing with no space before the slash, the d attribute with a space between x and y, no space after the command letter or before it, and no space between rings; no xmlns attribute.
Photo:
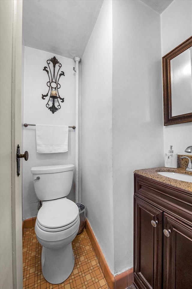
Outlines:
<svg viewBox="0 0 192 289"><path fill-rule="evenodd" d="M164 125L192 121L192 36L164 57Z"/></svg>

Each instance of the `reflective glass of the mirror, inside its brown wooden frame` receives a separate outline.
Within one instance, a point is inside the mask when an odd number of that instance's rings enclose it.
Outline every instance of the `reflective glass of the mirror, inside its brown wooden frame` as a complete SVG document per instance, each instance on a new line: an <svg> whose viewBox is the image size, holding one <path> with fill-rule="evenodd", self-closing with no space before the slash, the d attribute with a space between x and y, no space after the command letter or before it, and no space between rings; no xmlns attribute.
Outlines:
<svg viewBox="0 0 192 289"><path fill-rule="evenodd" d="M192 48L170 60L172 116L192 112Z"/></svg>

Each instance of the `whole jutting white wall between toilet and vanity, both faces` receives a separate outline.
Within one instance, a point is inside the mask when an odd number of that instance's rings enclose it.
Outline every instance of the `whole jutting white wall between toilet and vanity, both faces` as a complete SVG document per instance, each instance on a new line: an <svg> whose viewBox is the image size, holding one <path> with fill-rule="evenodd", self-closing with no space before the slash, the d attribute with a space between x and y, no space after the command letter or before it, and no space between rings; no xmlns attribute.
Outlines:
<svg viewBox="0 0 192 289"><path fill-rule="evenodd" d="M133 171L164 164L160 15L104 1L81 67L82 202L116 275L133 266Z"/></svg>

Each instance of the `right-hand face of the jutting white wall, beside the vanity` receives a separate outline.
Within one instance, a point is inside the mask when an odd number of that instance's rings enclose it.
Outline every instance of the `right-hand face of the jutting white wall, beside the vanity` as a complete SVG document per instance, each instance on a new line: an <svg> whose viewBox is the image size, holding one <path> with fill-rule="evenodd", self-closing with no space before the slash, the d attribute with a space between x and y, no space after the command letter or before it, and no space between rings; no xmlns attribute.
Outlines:
<svg viewBox="0 0 192 289"><path fill-rule="evenodd" d="M113 217L115 273L133 266L135 169L164 164L160 15L113 2Z"/></svg>

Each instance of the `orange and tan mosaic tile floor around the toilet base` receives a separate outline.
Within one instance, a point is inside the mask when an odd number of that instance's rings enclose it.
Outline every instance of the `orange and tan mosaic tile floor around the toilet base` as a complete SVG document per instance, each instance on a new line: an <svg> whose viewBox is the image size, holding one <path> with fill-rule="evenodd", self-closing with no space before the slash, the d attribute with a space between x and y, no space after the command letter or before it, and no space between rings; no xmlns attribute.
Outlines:
<svg viewBox="0 0 192 289"><path fill-rule="evenodd" d="M50 284L41 272L41 245L34 228L23 235L23 289L109 289L88 235L83 232L72 242L75 255L73 272L61 284Z"/></svg>

